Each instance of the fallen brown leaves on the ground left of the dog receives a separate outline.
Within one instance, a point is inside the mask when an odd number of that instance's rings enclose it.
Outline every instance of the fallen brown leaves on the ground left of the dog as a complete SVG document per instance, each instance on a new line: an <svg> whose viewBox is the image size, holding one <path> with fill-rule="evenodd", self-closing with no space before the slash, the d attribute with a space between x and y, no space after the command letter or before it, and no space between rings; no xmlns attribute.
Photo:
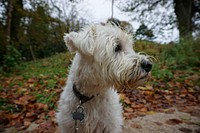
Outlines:
<svg viewBox="0 0 200 133"><path fill-rule="evenodd" d="M58 78L54 88L50 88L48 77L29 78L23 77L1 78L3 87L0 92L0 131L5 128L15 127L17 130L28 128L31 123L39 124L33 132L54 132L56 130L55 108L50 106L58 101L61 88L66 79ZM44 101L38 101L38 94ZM45 101L43 96L51 96ZM46 98L47 98L46 97ZM46 103L45 103L46 102Z"/></svg>

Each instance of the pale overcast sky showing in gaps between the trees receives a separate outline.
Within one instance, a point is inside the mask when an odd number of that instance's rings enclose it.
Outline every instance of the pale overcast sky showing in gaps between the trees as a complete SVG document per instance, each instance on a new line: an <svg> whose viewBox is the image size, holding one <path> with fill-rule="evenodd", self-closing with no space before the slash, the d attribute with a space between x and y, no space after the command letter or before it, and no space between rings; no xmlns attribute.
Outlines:
<svg viewBox="0 0 200 133"><path fill-rule="evenodd" d="M131 17L127 13L121 12L116 7L117 4L118 3L115 2L114 18L117 18L121 21L128 21L132 24L134 31L136 31L139 28L140 23L132 21ZM86 18L91 23L106 22L106 20L111 17L111 0L83 0L78 4L77 8L80 16ZM162 11L167 9L160 10ZM165 12L167 13L168 11ZM164 31L164 34L166 38L156 35L155 41L167 43L178 40L177 28L173 29L172 31Z"/></svg>

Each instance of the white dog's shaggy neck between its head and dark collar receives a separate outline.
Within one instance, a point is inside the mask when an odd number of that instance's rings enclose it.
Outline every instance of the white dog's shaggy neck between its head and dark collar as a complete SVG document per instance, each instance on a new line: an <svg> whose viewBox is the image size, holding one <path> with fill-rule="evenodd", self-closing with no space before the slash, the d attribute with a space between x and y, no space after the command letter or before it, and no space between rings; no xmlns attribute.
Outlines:
<svg viewBox="0 0 200 133"><path fill-rule="evenodd" d="M98 80L99 78L97 78L97 75L95 75L97 72L95 72L95 70L88 65L88 62L86 63L86 61L83 59L85 57L80 58L80 55L77 54L75 58L79 58L80 60L78 62L73 62L72 64L72 82L76 85L79 92L91 97L93 95L100 94L101 92L105 92L105 89L111 87L111 85L105 85L103 81ZM92 64L92 60L90 61L90 64ZM87 73L85 73L86 70Z"/></svg>

